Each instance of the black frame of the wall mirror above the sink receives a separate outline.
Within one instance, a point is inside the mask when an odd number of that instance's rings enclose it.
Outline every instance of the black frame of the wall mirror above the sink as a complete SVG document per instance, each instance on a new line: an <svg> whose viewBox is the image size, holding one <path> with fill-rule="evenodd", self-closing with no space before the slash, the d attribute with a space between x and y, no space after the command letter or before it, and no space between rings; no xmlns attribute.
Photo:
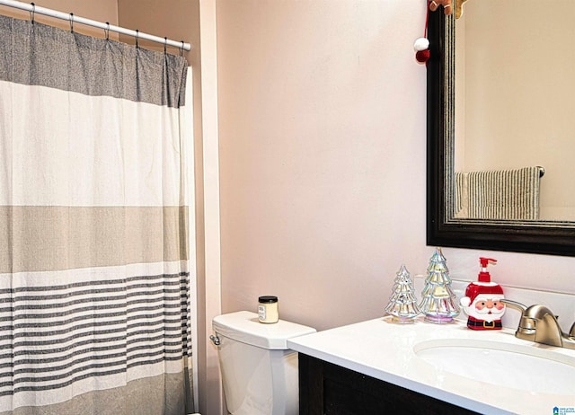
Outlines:
<svg viewBox="0 0 575 415"><path fill-rule="evenodd" d="M491 251L575 256L575 223L454 219L453 200L455 19L429 13L427 63L427 244ZM448 59L446 57L449 57ZM448 84L447 84L448 82ZM449 192L447 192L449 190Z"/></svg>

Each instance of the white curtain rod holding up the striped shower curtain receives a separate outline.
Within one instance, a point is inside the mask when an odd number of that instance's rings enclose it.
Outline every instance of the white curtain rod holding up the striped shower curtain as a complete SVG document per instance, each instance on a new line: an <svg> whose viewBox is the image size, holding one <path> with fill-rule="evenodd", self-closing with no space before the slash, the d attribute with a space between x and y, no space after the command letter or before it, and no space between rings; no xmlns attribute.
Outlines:
<svg viewBox="0 0 575 415"><path fill-rule="evenodd" d="M175 48L180 48L180 49L184 49L184 50L191 50L190 43L185 43L183 40L176 41L176 40L169 40L167 38L160 38L158 36L154 36L151 34L142 33L141 31L132 31L130 29L125 29L123 27L114 26L108 22L105 22L105 23L96 22L95 20L86 19L85 17L78 17L73 13L68 14L68 13L57 12L56 10L51 10L51 9L47 9L45 7L40 7L40 6L35 5L33 3L27 4L27 3L17 2L14 0L0 0L0 4L14 7L16 9L26 10L26 11L32 13L32 16L34 13L44 14L46 16L56 17L57 19L67 20L71 23L82 23L82 24L86 24L88 26L101 28L104 31L116 31L118 33L132 36L132 37L137 38L137 39L151 40L151 41L154 41L157 43L162 43L164 45L173 46Z"/></svg>

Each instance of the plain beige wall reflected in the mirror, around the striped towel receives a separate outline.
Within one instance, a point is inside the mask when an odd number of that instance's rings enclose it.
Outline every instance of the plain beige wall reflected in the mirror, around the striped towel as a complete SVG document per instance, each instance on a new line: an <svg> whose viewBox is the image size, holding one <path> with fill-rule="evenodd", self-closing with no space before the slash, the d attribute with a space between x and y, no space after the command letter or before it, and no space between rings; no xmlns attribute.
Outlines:
<svg viewBox="0 0 575 415"><path fill-rule="evenodd" d="M456 91L464 91L456 105L457 156L467 172L544 166L541 218L573 221L575 164L565 155L575 151L575 56L565 50L575 36L575 2L541 4L465 4L457 22L457 53L466 51L456 66L463 79Z"/></svg>

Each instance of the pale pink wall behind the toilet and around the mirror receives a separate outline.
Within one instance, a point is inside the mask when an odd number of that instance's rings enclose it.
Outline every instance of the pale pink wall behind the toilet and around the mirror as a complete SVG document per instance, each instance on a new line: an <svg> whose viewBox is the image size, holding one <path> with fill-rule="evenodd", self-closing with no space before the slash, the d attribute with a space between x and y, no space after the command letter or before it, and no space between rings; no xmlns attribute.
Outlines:
<svg viewBox="0 0 575 415"><path fill-rule="evenodd" d="M217 2L223 312L277 295L322 330L383 315L402 263L425 273L424 8ZM501 283L575 292L575 258L444 253L454 278L490 255Z"/></svg>

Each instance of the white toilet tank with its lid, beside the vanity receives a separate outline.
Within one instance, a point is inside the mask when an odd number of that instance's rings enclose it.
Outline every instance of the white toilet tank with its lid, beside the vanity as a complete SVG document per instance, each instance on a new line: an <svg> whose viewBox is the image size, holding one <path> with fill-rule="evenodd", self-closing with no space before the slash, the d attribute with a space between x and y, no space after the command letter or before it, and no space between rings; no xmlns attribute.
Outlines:
<svg viewBox="0 0 575 415"><path fill-rule="evenodd" d="M287 340L314 333L295 322L265 324L248 311L212 321L227 411L232 415L296 415L297 353Z"/></svg>

